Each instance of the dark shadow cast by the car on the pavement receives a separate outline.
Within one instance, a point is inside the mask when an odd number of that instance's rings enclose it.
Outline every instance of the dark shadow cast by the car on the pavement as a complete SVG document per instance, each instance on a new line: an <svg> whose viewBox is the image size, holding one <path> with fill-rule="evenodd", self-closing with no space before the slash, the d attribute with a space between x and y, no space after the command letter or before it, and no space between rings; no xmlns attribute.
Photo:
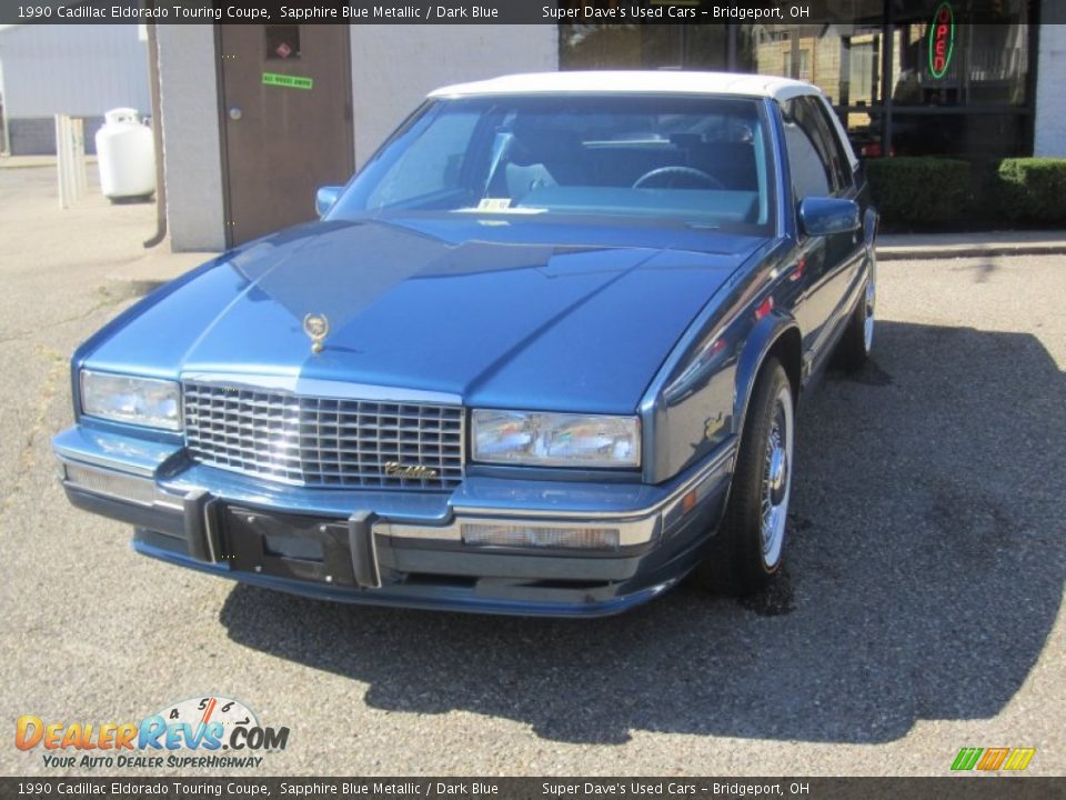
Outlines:
<svg viewBox="0 0 1066 800"><path fill-rule="evenodd" d="M238 643L365 682L371 707L567 742L884 742L918 720L993 717L1062 600L1063 373L1023 333L882 322L875 353L801 403L788 571L763 598L686 583L577 621L241 584L221 620Z"/></svg>

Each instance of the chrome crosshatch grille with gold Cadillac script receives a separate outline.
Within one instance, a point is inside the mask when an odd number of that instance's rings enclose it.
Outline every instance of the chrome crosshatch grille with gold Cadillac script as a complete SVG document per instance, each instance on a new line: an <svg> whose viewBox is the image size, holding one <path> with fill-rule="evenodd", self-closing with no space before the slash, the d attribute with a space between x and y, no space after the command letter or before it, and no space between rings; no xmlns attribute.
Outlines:
<svg viewBox="0 0 1066 800"><path fill-rule="evenodd" d="M201 463L308 487L432 490L463 479L459 407L212 383L183 390L185 444ZM395 474L420 467L435 474Z"/></svg>

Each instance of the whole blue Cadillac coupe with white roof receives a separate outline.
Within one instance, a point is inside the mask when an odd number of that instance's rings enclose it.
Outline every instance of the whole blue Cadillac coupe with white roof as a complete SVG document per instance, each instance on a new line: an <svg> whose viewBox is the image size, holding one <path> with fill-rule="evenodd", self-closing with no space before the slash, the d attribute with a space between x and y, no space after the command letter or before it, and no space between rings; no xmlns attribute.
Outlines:
<svg viewBox="0 0 1066 800"><path fill-rule="evenodd" d="M364 603L605 614L778 571L796 402L873 341L877 216L817 89L449 87L318 207L78 349L71 502Z"/></svg>

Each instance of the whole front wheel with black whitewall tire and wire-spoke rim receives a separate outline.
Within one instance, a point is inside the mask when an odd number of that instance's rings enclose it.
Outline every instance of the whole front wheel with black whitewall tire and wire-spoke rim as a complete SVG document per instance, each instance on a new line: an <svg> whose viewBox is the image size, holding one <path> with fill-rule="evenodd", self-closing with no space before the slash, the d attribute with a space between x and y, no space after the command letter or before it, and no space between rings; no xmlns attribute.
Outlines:
<svg viewBox="0 0 1066 800"><path fill-rule="evenodd" d="M738 594L765 587L784 556L795 403L777 359L764 364L748 403L722 527L697 570L710 588Z"/></svg>

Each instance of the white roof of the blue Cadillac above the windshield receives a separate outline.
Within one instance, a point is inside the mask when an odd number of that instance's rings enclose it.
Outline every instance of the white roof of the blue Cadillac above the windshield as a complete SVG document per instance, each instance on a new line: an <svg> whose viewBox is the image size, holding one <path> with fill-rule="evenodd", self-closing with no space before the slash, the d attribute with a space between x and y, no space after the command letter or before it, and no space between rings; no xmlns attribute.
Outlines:
<svg viewBox="0 0 1066 800"><path fill-rule="evenodd" d="M804 81L740 72L589 71L531 72L502 76L473 83L457 83L430 92L431 98L475 94L647 92L681 94L737 94L787 100L797 94L817 94Z"/></svg>

